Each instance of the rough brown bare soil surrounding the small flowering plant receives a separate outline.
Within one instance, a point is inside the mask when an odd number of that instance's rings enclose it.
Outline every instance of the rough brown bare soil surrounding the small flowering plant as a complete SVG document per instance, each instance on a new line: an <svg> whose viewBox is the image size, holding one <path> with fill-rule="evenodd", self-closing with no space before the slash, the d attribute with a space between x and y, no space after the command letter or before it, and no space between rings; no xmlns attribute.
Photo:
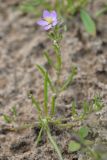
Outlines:
<svg viewBox="0 0 107 160"><path fill-rule="evenodd" d="M88 7L91 14L102 7L106 0L95 0ZM0 1L0 160L58 160L51 144L43 135L36 147L35 141L39 128L35 122L37 114L28 93L43 101L43 79L35 65L41 64L53 71L44 59L45 49L51 51L51 43L46 32L35 26L32 14L23 14L18 6L21 0ZM94 17L95 18L95 17ZM61 43L64 63L64 79L73 65L78 74L73 84L64 91L57 104L58 116L71 116L71 104L77 102L81 110L83 100L92 100L100 94L104 107L92 113L85 122L92 127L94 145L107 152L107 14L95 18L96 37L89 36L78 18L69 22L69 30L64 33ZM35 124L34 127L14 130L13 124L7 125L3 115L11 116L11 108L16 106L17 118L14 125ZM78 126L81 124L77 124ZM82 153L71 154L67 144L71 140L71 130L52 128L51 133L61 148L64 160L83 160ZM96 136L95 136L96 135ZM105 144L103 143L105 142ZM104 152L103 151L103 152ZM106 159L105 159L106 160Z"/></svg>

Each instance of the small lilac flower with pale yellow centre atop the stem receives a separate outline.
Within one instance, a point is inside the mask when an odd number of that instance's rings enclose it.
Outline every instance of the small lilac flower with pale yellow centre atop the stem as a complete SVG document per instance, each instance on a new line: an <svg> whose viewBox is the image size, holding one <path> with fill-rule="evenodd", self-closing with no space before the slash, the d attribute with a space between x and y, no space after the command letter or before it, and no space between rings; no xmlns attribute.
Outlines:
<svg viewBox="0 0 107 160"><path fill-rule="evenodd" d="M43 11L43 17L37 22L38 25L42 26L44 30L49 30L57 25L57 13L55 11L49 12Z"/></svg>

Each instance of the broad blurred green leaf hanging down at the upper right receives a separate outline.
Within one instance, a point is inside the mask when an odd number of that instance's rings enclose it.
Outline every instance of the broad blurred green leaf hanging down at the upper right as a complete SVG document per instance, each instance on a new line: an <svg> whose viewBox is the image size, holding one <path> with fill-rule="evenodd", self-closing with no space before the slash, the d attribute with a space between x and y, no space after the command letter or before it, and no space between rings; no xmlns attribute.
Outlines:
<svg viewBox="0 0 107 160"><path fill-rule="evenodd" d="M95 22L92 20L92 18L88 14L88 12L86 12L83 9L81 9L80 10L80 17L81 17L81 20L82 20L82 22L83 22L83 24L85 26L86 31L88 33L92 34L92 35L96 35Z"/></svg>

